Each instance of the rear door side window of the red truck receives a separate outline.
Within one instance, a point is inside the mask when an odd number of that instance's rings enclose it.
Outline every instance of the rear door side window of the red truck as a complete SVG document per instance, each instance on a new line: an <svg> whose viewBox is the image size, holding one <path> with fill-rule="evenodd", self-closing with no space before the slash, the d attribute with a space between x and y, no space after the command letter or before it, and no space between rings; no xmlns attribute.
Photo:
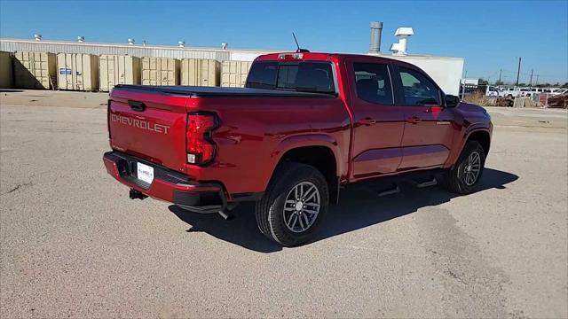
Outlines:
<svg viewBox="0 0 568 319"><path fill-rule="evenodd" d="M353 63L357 96L367 102L393 105L389 69L376 63Z"/></svg>

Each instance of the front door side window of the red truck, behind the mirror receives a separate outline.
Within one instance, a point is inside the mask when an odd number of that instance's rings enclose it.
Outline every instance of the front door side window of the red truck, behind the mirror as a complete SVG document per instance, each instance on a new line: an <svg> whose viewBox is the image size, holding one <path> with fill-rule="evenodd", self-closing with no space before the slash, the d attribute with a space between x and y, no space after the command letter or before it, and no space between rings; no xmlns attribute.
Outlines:
<svg viewBox="0 0 568 319"><path fill-rule="evenodd" d="M421 73L398 67L405 105L441 105L436 85Z"/></svg>

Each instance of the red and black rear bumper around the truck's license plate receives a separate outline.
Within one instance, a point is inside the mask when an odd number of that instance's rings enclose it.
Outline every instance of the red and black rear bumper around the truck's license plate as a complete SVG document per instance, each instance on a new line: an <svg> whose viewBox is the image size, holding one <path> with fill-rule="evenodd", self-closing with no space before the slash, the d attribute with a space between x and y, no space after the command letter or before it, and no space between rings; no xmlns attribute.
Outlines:
<svg viewBox="0 0 568 319"><path fill-rule="evenodd" d="M227 198L220 183L197 183L189 177L144 159L122 153L103 155L106 172L130 189L151 198L162 199L195 213L209 214L224 210ZM154 167L154 181L149 184L137 177L137 163Z"/></svg>

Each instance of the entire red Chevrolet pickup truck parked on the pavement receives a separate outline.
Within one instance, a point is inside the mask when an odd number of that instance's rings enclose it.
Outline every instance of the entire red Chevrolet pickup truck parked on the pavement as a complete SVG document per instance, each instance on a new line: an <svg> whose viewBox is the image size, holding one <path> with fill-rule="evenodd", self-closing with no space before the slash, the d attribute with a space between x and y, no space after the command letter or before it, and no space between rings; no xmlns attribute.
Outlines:
<svg viewBox="0 0 568 319"><path fill-rule="evenodd" d="M245 88L116 86L103 159L130 198L225 216L256 201L260 231L293 246L343 185L436 170L450 191L475 191L492 128L416 66L275 53L256 58Z"/></svg>

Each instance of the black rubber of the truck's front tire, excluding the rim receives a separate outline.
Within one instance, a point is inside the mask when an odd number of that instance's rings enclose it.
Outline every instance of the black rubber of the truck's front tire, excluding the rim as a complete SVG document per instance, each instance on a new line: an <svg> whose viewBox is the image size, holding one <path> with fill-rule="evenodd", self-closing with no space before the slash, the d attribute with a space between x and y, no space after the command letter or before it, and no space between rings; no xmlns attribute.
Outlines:
<svg viewBox="0 0 568 319"><path fill-rule="evenodd" d="M479 155L479 173L477 178L473 183L471 180L467 180L469 167L469 157L472 156L474 152ZM483 171L485 167L485 151L481 144L477 141L469 141L463 147L460 157L455 163L454 167L448 169L444 175L444 186L448 191L452 191L456 194L469 194L476 191L477 185L483 176ZM470 178L471 175L469 175Z"/></svg>

